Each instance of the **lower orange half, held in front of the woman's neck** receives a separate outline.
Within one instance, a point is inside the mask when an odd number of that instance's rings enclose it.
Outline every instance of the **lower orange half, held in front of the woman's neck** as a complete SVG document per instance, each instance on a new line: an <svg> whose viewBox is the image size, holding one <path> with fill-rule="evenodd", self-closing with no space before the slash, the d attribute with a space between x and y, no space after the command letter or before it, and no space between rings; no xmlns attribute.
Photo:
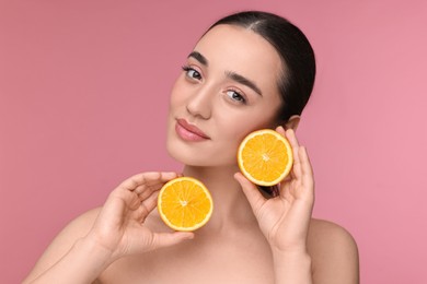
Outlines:
<svg viewBox="0 0 427 284"><path fill-rule="evenodd" d="M163 222L175 230L191 232L204 226L214 210L206 186L192 177L168 181L159 192L158 210Z"/></svg>

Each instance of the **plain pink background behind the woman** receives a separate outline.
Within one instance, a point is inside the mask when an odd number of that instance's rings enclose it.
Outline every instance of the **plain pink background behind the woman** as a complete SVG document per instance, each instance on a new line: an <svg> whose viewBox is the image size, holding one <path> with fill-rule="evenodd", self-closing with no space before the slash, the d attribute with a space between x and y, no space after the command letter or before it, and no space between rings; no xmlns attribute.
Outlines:
<svg viewBox="0 0 427 284"><path fill-rule="evenodd" d="M274 11L318 56L299 129L314 216L345 226L362 283L427 283L425 1L0 1L0 283L126 177L180 169L169 92L216 19Z"/></svg>

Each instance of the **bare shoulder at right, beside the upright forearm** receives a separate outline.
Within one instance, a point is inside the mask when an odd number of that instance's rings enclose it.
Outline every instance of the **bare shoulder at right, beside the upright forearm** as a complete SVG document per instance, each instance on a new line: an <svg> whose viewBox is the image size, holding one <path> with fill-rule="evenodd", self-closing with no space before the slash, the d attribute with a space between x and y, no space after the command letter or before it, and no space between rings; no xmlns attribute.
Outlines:
<svg viewBox="0 0 427 284"><path fill-rule="evenodd" d="M359 283L359 255L356 240L344 227L313 218L308 249L314 283Z"/></svg>

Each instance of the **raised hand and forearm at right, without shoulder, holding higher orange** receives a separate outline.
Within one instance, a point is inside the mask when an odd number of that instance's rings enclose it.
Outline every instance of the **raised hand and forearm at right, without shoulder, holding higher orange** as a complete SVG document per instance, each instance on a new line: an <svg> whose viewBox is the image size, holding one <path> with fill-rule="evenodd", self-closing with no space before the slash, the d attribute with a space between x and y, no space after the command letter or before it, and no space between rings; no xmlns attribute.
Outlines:
<svg viewBox="0 0 427 284"><path fill-rule="evenodd" d="M293 151L293 166L290 175L280 182L280 194L266 199L256 187L236 174L259 228L266 237L273 253L275 283L313 283L311 258L307 241L314 204L314 178L305 147L300 146L293 130L285 132Z"/></svg>

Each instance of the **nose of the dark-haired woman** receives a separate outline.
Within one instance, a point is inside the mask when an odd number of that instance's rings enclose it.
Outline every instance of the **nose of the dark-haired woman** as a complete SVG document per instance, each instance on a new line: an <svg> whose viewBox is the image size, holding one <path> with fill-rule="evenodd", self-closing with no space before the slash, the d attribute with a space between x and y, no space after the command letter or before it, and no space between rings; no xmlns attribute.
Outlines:
<svg viewBox="0 0 427 284"><path fill-rule="evenodd" d="M214 97L214 87L203 86L198 88L188 99L187 111L194 117L210 118Z"/></svg>

